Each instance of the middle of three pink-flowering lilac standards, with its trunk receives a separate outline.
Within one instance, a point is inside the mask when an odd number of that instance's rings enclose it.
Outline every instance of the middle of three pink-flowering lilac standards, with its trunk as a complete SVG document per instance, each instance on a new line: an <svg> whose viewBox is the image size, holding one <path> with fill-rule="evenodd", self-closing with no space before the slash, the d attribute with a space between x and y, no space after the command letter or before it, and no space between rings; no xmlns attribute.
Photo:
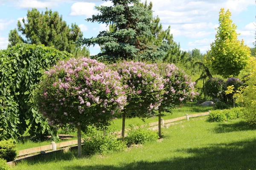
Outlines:
<svg viewBox="0 0 256 170"><path fill-rule="evenodd" d="M157 65L147 65L143 62L119 62L112 65L124 84L127 105L122 113L122 140L125 135L125 116L131 112L137 116L152 116L160 105L163 94L163 78L157 74Z"/></svg>

